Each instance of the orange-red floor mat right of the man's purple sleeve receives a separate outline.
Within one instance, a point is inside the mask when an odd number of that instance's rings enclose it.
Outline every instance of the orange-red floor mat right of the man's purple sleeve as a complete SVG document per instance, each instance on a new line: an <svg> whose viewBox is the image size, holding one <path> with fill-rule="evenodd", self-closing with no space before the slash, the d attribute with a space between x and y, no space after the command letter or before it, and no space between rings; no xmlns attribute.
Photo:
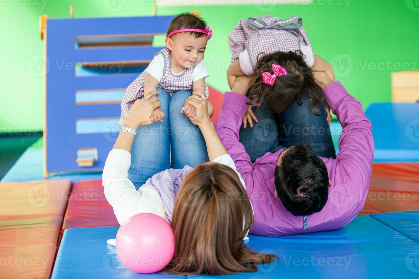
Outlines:
<svg viewBox="0 0 419 279"><path fill-rule="evenodd" d="M360 214L419 210L419 164L373 164L370 191Z"/></svg>

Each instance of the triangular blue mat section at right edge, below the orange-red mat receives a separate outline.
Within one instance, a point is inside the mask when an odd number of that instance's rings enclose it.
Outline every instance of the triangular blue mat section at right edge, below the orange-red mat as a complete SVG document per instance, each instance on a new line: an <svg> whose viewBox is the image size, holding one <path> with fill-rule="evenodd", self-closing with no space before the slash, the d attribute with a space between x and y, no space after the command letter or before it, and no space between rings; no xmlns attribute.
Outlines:
<svg viewBox="0 0 419 279"><path fill-rule="evenodd" d="M371 216L419 243L419 211L371 214ZM419 265L419 260L417 264Z"/></svg>

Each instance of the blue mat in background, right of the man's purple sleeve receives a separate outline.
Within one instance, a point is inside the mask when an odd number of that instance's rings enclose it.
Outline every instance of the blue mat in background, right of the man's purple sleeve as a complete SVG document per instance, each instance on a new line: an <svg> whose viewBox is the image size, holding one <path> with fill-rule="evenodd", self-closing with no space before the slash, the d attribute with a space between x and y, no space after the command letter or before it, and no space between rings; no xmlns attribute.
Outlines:
<svg viewBox="0 0 419 279"><path fill-rule="evenodd" d="M374 162L419 161L419 102L372 103L365 115L372 123Z"/></svg>

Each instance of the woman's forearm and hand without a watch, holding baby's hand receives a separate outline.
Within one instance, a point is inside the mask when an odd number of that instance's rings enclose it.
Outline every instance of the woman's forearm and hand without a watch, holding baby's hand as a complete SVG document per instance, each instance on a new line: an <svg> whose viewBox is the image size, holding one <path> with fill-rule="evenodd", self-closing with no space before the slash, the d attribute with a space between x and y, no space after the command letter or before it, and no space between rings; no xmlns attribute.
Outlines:
<svg viewBox="0 0 419 279"><path fill-rule="evenodd" d="M209 161L212 161L221 155L228 154L215 131L214 124L212 124L209 119L205 94L202 92L194 92L191 97L186 99L185 104L192 105L196 110L196 115L189 119L199 127L202 136L204 136L205 143L207 144Z"/></svg>

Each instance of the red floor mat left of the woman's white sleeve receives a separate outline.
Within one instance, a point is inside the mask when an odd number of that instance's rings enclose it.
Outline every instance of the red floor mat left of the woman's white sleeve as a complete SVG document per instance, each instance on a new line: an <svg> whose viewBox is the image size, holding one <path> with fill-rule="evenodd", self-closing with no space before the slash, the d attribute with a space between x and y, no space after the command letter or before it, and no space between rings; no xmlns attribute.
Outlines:
<svg viewBox="0 0 419 279"><path fill-rule="evenodd" d="M68 200L62 231L67 228L119 226L103 193L102 180L75 182Z"/></svg>

